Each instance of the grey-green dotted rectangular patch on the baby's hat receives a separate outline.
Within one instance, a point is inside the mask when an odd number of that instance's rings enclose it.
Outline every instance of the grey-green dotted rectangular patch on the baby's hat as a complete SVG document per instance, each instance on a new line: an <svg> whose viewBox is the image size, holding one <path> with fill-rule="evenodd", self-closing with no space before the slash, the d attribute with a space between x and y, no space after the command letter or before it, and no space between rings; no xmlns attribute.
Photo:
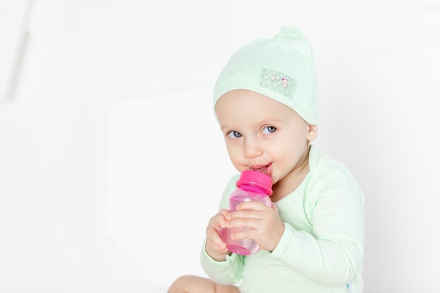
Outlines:
<svg viewBox="0 0 440 293"><path fill-rule="evenodd" d="M286 98L293 98L297 87L297 80L283 72L263 68L261 70L260 86L283 94Z"/></svg>

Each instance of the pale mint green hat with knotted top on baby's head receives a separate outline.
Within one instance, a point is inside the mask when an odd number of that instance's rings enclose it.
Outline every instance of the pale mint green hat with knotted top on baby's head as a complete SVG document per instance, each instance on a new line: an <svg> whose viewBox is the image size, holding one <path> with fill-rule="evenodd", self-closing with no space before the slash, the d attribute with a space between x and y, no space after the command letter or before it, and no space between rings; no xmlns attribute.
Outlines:
<svg viewBox="0 0 440 293"><path fill-rule="evenodd" d="M318 85L309 41L296 27L238 49L214 86L214 106L228 91L247 89L283 103L307 123L318 124Z"/></svg>

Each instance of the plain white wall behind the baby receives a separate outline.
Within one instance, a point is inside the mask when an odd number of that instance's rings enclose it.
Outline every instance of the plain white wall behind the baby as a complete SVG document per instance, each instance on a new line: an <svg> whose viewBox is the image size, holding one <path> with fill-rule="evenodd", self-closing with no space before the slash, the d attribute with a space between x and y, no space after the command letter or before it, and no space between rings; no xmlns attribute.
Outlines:
<svg viewBox="0 0 440 293"><path fill-rule="evenodd" d="M0 292L165 292L204 275L234 172L212 86L285 24L316 54L316 144L365 193L365 292L435 290L440 3L353 2L0 1Z"/></svg>

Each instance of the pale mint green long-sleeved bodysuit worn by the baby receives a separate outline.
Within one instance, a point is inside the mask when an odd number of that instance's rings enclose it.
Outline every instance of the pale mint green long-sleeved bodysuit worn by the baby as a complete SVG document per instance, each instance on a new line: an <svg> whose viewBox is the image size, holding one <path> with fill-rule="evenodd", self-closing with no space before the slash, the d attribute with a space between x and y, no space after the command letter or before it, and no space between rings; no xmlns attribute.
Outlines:
<svg viewBox="0 0 440 293"><path fill-rule="evenodd" d="M215 261L203 245L202 267L212 280L238 284L241 293L363 292L363 193L344 165L314 145L309 168L299 187L274 203L285 231L273 252ZM238 176L221 208L228 208Z"/></svg>

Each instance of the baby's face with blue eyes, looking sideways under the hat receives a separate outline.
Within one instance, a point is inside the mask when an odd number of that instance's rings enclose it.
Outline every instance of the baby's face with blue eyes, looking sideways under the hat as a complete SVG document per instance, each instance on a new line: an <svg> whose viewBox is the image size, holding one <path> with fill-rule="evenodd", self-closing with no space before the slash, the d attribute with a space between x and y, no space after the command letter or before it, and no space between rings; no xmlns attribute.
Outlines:
<svg viewBox="0 0 440 293"><path fill-rule="evenodd" d="M304 164L317 134L287 105L254 91L225 93L215 111L234 167L265 171L273 183Z"/></svg>

